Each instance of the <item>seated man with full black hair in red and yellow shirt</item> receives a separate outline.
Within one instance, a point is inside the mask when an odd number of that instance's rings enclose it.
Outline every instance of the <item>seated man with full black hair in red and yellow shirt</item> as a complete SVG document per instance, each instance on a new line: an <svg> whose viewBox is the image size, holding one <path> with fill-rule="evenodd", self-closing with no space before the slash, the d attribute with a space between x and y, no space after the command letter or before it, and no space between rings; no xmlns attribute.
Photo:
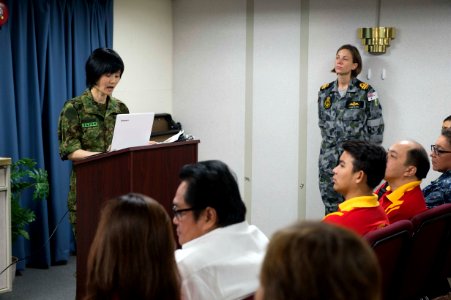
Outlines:
<svg viewBox="0 0 451 300"><path fill-rule="evenodd" d="M384 178L386 163L387 154L381 146L365 141L344 142L333 182L345 200L323 221L351 228L360 235L387 226L387 215L373 194Z"/></svg>

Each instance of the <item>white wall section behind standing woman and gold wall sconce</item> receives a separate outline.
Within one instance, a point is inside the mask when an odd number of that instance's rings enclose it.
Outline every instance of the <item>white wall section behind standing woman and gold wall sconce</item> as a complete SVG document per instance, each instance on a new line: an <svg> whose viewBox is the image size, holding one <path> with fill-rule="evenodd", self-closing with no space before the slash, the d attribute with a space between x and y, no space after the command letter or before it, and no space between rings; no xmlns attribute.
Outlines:
<svg viewBox="0 0 451 300"><path fill-rule="evenodd" d="M345 6L343 6L345 4ZM317 92L321 84L335 79L332 69L336 49L345 43L357 45L363 58L359 78L378 92L385 120L384 146L400 139L414 139L429 152L439 135L441 121L451 114L447 94L451 79L451 2L384 1L381 26L393 26L397 36L386 54L363 52L357 28L376 25L375 4L367 1L333 0L310 2L309 105L307 216L322 216L317 184L316 159L320 132L317 126ZM372 78L366 78L371 68ZM382 80L382 69L387 77ZM439 174L431 171L423 186Z"/></svg>

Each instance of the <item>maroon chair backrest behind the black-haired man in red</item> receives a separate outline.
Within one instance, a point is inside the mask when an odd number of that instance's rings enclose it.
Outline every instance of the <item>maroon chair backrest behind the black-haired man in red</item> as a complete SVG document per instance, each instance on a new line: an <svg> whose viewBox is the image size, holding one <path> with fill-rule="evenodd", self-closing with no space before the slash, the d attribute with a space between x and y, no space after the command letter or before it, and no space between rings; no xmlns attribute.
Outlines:
<svg viewBox="0 0 451 300"><path fill-rule="evenodd" d="M412 222L401 220L363 236L379 260L384 299L390 299L390 295L396 293L399 285L397 277L404 267L405 253L409 249L412 232Z"/></svg>

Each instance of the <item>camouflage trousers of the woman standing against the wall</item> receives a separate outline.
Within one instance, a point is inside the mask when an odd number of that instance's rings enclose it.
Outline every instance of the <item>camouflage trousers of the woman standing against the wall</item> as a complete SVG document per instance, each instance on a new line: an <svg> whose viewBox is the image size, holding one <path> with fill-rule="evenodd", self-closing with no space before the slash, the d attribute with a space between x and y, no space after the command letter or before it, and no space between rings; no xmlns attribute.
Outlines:
<svg viewBox="0 0 451 300"><path fill-rule="evenodd" d="M344 200L343 196L334 190L334 183L332 180L332 170L338 164L341 151L342 150L338 147L329 149L321 148L319 155L319 191L321 193L321 199L324 203L326 215L337 211L338 204Z"/></svg>

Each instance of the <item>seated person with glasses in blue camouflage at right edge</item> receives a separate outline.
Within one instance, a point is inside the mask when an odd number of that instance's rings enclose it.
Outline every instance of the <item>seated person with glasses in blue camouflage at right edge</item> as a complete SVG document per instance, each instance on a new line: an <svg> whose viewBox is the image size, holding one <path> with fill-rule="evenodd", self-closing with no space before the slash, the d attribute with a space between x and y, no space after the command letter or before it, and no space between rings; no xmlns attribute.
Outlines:
<svg viewBox="0 0 451 300"><path fill-rule="evenodd" d="M451 203L451 129L442 129L442 134L431 146L432 169L443 173L423 189L429 208Z"/></svg>

